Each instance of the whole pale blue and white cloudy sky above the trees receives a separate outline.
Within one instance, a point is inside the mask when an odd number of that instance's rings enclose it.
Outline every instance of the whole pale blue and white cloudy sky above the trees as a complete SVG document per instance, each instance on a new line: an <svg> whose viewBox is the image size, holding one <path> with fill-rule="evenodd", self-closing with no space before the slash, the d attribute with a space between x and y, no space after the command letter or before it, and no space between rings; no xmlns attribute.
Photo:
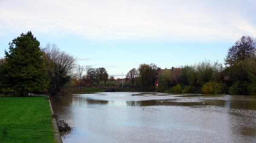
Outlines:
<svg viewBox="0 0 256 143"><path fill-rule="evenodd" d="M122 78L140 64L171 68L224 63L241 38L256 37L255 0L0 0L0 58L31 31L80 66Z"/></svg>

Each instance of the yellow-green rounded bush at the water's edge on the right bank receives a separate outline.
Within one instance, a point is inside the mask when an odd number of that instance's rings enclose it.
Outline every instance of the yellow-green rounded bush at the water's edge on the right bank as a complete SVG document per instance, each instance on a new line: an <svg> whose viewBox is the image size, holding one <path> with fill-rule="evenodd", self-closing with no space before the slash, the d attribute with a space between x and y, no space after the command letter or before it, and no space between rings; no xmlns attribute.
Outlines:
<svg viewBox="0 0 256 143"><path fill-rule="evenodd" d="M226 84L223 82L209 81L203 84L202 93L204 94L223 94Z"/></svg>

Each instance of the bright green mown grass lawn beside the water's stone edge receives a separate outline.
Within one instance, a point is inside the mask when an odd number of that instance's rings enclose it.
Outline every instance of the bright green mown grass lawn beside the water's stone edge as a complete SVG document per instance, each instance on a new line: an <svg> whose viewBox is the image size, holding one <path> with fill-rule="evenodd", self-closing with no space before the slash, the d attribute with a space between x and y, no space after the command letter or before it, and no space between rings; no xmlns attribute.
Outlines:
<svg viewBox="0 0 256 143"><path fill-rule="evenodd" d="M0 143L54 143L47 96L0 96Z"/></svg>

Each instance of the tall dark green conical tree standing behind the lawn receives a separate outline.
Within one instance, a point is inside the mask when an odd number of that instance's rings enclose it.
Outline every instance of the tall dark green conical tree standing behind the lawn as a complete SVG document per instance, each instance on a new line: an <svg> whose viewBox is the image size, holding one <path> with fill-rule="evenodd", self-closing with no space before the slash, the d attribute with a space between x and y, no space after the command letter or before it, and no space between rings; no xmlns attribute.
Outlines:
<svg viewBox="0 0 256 143"><path fill-rule="evenodd" d="M5 50L6 61L0 68L4 87L21 93L21 96L43 91L47 87L47 74L39 45L31 31L20 34L9 43L9 52Z"/></svg>

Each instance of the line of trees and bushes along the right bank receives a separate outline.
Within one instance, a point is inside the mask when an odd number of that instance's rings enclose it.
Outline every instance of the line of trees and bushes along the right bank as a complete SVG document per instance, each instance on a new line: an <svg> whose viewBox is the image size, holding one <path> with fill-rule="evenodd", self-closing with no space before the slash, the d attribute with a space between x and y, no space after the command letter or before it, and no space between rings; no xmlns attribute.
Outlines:
<svg viewBox="0 0 256 143"><path fill-rule="evenodd" d="M126 77L128 84L161 92L256 95L256 39L242 36L228 49L224 64L207 59L170 69L140 64Z"/></svg>

